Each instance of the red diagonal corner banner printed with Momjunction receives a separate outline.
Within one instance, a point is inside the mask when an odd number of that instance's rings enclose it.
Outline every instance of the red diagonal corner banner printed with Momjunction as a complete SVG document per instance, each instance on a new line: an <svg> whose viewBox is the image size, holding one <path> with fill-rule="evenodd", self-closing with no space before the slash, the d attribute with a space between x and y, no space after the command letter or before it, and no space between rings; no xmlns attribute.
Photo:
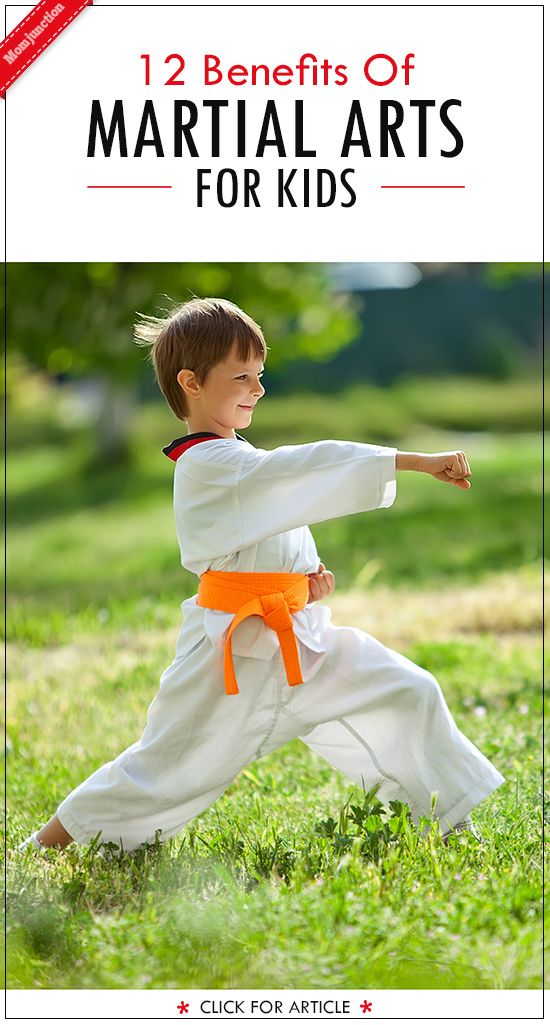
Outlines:
<svg viewBox="0 0 550 1025"><path fill-rule="evenodd" d="M0 96L93 0L40 0L0 43Z"/></svg>

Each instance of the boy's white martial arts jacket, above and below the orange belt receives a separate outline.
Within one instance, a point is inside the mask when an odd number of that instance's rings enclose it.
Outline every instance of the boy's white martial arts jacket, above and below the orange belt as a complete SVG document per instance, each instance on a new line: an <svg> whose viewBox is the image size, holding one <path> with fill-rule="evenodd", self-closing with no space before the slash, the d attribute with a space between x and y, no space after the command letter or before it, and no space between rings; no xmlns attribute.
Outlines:
<svg viewBox="0 0 550 1025"><path fill-rule="evenodd" d="M181 565L199 577L208 569L316 573L320 558L305 525L391 505L395 451L343 441L265 451L241 436L193 446L178 458L174 475ZM183 602L182 613L176 653L201 631L224 648L232 613L204 609L197 596ZM293 616L304 680L320 662L313 653L327 651L330 620L331 610L320 603ZM272 659L279 639L252 616L237 627L231 645L234 655Z"/></svg>

